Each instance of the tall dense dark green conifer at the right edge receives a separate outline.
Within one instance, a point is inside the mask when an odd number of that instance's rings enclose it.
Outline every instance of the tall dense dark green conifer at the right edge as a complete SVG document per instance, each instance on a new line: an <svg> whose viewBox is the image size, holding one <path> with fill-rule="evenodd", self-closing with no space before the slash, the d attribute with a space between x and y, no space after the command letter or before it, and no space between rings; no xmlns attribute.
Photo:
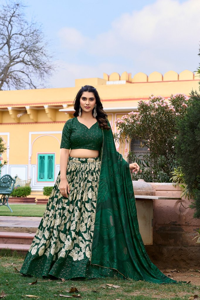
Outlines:
<svg viewBox="0 0 200 300"><path fill-rule="evenodd" d="M191 208L200 218L200 95L190 94L191 104L183 119L177 120L176 157L189 193L194 195Z"/></svg>

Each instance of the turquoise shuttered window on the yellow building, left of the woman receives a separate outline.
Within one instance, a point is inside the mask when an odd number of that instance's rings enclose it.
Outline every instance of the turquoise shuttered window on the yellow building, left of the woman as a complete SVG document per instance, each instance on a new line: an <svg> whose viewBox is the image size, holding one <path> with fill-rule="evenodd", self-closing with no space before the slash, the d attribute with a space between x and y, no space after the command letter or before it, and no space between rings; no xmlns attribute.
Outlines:
<svg viewBox="0 0 200 300"><path fill-rule="evenodd" d="M55 154L38 154L38 181L54 182Z"/></svg>

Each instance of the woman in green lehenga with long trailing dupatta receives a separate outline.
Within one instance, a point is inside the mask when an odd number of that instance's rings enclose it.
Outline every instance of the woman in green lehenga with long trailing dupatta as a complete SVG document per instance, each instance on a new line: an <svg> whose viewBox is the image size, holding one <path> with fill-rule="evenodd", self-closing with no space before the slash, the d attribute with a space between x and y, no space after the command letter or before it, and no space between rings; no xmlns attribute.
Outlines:
<svg viewBox="0 0 200 300"><path fill-rule="evenodd" d="M82 87L74 109L62 132L60 173L20 272L175 282L146 253L130 174L139 166L116 151L97 90Z"/></svg>

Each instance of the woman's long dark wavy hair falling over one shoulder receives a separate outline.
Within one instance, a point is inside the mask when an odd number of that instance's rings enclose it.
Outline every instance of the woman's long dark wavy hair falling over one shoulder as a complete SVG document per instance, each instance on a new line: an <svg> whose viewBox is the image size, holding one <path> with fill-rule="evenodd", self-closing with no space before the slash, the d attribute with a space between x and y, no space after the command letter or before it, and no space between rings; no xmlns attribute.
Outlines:
<svg viewBox="0 0 200 300"><path fill-rule="evenodd" d="M97 112L97 121L100 128L110 130L111 128L108 126L108 115L103 110L103 105L100 101L100 97L98 95L98 91L92 85L84 85L82 88L77 92L77 95L74 99L74 117L78 116L79 106L80 106L80 97L82 96L83 92L92 92L96 99L96 112ZM92 110L94 113L94 109Z"/></svg>

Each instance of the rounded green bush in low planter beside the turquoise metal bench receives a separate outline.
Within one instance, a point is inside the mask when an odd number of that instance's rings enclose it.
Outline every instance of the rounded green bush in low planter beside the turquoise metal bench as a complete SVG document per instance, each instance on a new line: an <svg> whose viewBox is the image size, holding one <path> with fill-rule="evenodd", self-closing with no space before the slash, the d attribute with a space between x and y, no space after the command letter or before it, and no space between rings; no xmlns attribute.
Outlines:
<svg viewBox="0 0 200 300"><path fill-rule="evenodd" d="M30 187L14 187L8 201L10 203L34 203L35 197L27 197L30 194Z"/></svg>

